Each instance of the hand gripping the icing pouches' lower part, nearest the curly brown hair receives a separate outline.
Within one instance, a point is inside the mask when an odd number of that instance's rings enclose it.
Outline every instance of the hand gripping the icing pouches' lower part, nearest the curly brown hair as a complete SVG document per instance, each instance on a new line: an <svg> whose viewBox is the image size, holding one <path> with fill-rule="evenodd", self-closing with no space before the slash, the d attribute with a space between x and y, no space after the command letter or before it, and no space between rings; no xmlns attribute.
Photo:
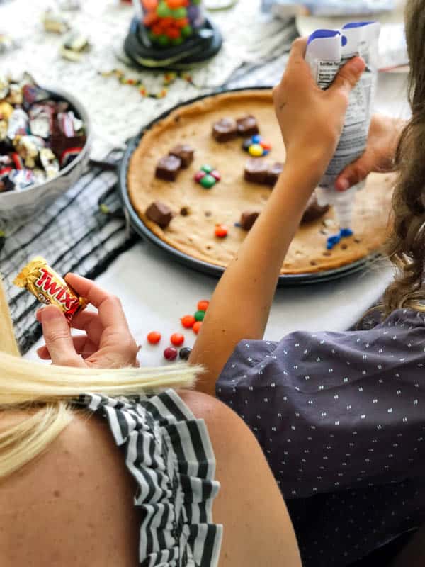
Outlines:
<svg viewBox="0 0 425 567"><path fill-rule="evenodd" d="M364 154L339 174L335 188L346 191L363 181L371 172L392 172L395 152L405 125L406 122L400 118L375 114L370 123L368 145Z"/></svg>

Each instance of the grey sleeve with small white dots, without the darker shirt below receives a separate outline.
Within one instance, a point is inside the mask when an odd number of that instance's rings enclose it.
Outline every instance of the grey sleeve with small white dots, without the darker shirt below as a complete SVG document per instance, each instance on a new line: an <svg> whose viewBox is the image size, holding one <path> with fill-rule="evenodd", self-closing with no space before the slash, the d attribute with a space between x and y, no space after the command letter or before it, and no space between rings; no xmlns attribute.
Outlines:
<svg viewBox="0 0 425 567"><path fill-rule="evenodd" d="M286 498L424 473L424 327L397 310L368 331L237 345L217 397L254 431Z"/></svg>

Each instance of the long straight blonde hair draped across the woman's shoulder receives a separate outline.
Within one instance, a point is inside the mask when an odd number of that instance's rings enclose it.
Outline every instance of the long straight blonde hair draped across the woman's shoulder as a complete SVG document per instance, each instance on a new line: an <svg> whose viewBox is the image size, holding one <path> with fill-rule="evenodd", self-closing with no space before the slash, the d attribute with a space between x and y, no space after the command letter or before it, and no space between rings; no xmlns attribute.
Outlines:
<svg viewBox="0 0 425 567"><path fill-rule="evenodd" d="M186 364L81 369L26 361L13 335L0 277L0 410L26 410L17 425L0 427L0 480L34 459L69 425L73 417L69 401L81 393L129 395L188 388L199 371Z"/></svg>

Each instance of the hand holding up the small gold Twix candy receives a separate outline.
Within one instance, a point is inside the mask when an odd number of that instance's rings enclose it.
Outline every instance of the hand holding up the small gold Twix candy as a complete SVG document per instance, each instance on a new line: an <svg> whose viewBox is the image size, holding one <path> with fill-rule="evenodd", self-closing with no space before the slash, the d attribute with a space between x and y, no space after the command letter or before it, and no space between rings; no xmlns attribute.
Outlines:
<svg viewBox="0 0 425 567"><path fill-rule="evenodd" d="M125 368L139 366L137 344L128 328L120 300L77 274L67 274L67 283L79 296L97 308L83 310L72 319L72 327L85 331L72 337L64 314L55 305L38 310L45 346L38 356L59 366Z"/></svg>

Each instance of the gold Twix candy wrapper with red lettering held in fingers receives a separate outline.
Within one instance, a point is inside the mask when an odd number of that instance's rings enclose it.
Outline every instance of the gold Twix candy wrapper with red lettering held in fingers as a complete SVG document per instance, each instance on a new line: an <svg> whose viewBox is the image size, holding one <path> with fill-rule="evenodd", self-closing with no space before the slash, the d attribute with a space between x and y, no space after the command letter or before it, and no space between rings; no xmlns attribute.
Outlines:
<svg viewBox="0 0 425 567"><path fill-rule="evenodd" d="M16 276L13 283L20 288L27 288L41 303L57 305L68 322L71 322L74 315L87 305L87 301L79 297L41 256L32 259Z"/></svg>

